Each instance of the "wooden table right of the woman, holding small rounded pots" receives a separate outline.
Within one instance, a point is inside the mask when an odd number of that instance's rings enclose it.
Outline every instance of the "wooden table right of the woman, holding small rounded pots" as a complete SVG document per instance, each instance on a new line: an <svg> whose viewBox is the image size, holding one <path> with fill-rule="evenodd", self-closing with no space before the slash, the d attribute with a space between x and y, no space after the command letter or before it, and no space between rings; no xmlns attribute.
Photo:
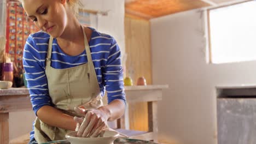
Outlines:
<svg viewBox="0 0 256 144"><path fill-rule="evenodd" d="M126 134L131 139L158 142L158 101L162 100L162 89L166 88L168 85L126 86L126 111L123 118L118 121L117 131ZM149 131L129 130L129 104L136 102L148 103Z"/></svg>

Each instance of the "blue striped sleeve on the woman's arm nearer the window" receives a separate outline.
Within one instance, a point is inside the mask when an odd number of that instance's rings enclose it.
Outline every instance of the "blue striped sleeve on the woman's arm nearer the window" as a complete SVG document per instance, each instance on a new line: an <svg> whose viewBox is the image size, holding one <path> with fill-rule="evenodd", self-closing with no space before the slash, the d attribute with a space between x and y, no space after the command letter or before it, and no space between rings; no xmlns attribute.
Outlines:
<svg viewBox="0 0 256 144"><path fill-rule="evenodd" d="M121 99L126 105L123 66L121 65L121 52L117 42L113 39L105 67L103 68L104 84L106 86L108 103Z"/></svg>

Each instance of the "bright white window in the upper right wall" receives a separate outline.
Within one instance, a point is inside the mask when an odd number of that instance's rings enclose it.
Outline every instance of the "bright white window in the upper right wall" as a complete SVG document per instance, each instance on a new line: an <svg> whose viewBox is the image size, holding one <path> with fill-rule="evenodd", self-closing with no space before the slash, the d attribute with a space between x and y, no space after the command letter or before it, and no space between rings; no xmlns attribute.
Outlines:
<svg viewBox="0 0 256 144"><path fill-rule="evenodd" d="M208 10L210 62L256 60L256 1Z"/></svg>

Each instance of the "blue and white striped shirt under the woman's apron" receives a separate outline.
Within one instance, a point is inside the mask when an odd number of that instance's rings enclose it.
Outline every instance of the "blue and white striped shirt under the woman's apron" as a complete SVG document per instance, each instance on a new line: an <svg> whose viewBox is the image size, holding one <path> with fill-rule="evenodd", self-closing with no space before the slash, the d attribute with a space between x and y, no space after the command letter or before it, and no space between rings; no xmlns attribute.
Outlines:
<svg viewBox="0 0 256 144"><path fill-rule="evenodd" d="M90 29L93 32L89 46L101 95L104 95L106 88L108 103L115 99L121 99L126 103L119 46L110 35L97 32L94 28ZM28 37L24 48L23 65L26 72L25 77L35 113L44 105L53 105L49 96L45 75L45 59L49 39L49 34L39 31ZM65 69L87 62L85 50L78 56L68 56L60 49L57 40L53 40L51 67ZM32 138L33 131L31 133Z"/></svg>

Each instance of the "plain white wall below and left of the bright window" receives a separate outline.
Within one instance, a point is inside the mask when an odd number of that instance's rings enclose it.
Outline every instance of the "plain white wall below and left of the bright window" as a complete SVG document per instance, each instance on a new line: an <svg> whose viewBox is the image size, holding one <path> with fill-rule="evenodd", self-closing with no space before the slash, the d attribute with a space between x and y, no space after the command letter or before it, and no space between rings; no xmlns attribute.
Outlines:
<svg viewBox="0 0 256 144"><path fill-rule="evenodd" d="M199 10L151 20L153 83L165 84L159 139L217 143L217 85L256 83L256 62L207 64Z"/></svg>

